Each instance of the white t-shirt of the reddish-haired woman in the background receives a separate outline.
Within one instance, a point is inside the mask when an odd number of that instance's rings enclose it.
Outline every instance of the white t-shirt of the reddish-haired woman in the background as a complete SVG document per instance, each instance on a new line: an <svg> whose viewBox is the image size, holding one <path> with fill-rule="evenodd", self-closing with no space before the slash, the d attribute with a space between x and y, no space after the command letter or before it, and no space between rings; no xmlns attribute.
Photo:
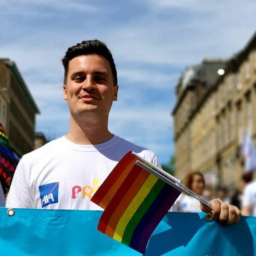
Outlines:
<svg viewBox="0 0 256 256"><path fill-rule="evenodd" d="M171 207L171 211L201 212L200 201L185 193L181 193L174 206Z"/></svg>

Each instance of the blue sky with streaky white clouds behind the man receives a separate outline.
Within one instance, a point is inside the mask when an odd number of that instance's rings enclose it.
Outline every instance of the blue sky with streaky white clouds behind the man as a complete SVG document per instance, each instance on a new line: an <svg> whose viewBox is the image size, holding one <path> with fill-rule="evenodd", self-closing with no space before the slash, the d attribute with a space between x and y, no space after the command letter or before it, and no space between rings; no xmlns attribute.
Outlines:
<svg viewBox="0 0 256 256"><path fill-rule="evenodd" d="M177 81L206 57L230 58L256 30L254 0L0 0L0 58L15 61L47 139L69 131L61 59L82 40L106 43L118 100L109 130L156 153L175 155L171 111Z"/></svg>

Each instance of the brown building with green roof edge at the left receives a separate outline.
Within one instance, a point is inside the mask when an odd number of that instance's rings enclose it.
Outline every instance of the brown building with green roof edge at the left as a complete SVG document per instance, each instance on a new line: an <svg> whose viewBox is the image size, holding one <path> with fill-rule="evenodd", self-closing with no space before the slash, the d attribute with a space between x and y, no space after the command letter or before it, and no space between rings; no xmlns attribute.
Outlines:
<svg viewBox="0 0 256 256"><path fill-rule="evenodd" d="M35 115L40 111L10 59L0 59L0 122L19 156L34 150Z"/></svg>

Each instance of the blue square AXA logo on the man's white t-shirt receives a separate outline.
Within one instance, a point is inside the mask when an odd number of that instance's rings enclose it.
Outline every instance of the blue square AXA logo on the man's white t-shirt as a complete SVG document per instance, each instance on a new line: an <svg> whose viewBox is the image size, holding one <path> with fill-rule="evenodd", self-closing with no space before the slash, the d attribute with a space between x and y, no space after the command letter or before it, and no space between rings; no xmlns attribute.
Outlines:
<svg viewBox="0 0 256 256"><path fill-rule="evenodd" d="M39 191L42 208L58 202L59 182L41 185Z"/></svg>

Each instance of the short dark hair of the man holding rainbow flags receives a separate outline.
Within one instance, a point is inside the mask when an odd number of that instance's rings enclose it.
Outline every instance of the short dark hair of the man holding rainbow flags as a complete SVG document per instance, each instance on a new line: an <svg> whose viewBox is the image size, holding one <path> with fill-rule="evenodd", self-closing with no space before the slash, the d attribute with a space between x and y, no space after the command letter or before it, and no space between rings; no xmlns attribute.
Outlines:
<svg viewBox="0 0 256 256"><path fill-rule="evenodd" d="M68 48L64 58L62 59L62 64L64 66L64 84L66 84L67 81L70 60L74 59L77 56L90 54L97 54L103 56L106 60L109 61L114 84L117 85L117 72L113 56L107 46L100 40L82 41L81 43L78 43Z"/></svg>

